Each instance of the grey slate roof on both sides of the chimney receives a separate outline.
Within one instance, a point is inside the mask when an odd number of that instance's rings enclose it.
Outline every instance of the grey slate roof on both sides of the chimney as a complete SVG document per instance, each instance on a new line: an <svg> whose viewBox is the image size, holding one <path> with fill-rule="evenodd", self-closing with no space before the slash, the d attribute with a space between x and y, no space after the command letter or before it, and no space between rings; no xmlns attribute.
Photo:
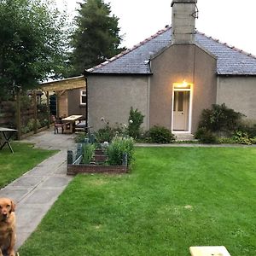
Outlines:
<svg viewBox="0 0 256 256"><path fill-rule="evenodd" d="M171 45L171 39L172 27L167 26L133 48L113 56L96 67L87 69L85 73L151 74L148 60ZM256 56L207 37L201 32L196 32L195 42L215 55L219 75L256 75Z"/></svg>

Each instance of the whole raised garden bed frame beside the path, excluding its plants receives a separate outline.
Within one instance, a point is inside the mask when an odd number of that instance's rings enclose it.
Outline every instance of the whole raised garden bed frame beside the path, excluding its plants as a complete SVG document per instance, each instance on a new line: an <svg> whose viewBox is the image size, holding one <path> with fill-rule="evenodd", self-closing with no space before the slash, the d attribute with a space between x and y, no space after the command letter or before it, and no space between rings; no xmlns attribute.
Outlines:
<svg viewBox="0 0 256 256"><path fill-rule="evenodd" d="M76 175L79 173L126 173L129 172L127 160L123 160L122 166L109 166L104 164L107 160L107 155L102 149L96 149L94 159L90 165L81 164L82 160L82 146L73 150L67 150L67 175Z"/></svg>

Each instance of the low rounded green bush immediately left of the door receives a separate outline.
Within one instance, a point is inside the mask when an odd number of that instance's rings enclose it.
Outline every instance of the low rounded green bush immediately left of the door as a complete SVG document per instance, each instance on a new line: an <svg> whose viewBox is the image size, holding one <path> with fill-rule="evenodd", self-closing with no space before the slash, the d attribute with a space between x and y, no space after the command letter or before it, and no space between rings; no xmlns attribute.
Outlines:
<svg viewBox="0 0 256 256"><path fill-rule="evenodd" d="M146 133L146 140L148 143L173 143L175 137L166 127L154 125Z"/></svg>

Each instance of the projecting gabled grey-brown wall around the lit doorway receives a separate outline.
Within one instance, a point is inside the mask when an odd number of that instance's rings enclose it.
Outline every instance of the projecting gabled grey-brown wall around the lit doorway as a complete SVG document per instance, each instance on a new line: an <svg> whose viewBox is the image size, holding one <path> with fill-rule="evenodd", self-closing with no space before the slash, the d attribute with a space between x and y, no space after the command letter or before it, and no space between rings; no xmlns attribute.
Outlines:
<svg viewBox="0 0 256 256"><path fill-rule="evenodd" d="M173 44L151 63L150 126L172 127L172 84L193 83L192 133L196 131L201 111L216 102L216 59L193 44Z"/></svg>

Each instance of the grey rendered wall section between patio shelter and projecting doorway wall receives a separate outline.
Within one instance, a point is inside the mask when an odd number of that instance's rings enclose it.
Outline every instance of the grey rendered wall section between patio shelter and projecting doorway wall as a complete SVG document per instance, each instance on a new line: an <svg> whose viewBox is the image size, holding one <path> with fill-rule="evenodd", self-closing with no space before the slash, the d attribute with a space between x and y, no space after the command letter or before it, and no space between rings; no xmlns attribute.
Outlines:
<svg viewBox="0 0 256 256"><path fill-rule="evenodd" d="M93 75L87 78L89 125L102 128L103 117L110 125L128 123L131 107L145 115L148 129L148 76Z"/></svg>

